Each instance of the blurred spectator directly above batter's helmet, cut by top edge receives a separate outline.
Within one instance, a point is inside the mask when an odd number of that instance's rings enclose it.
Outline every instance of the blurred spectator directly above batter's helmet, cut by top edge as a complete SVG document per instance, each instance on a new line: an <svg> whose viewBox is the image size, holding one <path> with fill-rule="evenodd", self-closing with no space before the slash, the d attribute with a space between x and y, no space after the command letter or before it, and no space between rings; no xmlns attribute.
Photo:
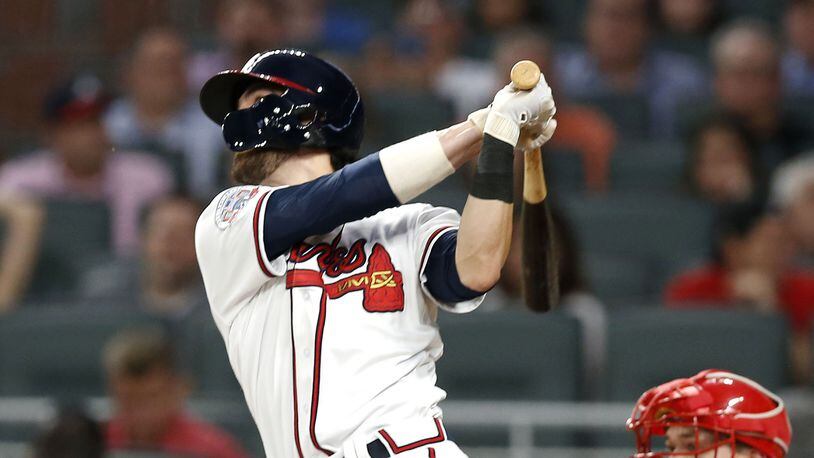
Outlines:
<svg viewBox="0 0 814 458"><path fill-rule="evenodd" d="M191 59L190 87L200 89L212 75L243 67L255 53L280 47L284 16L274 0L221 0L215 13L217 47Z"/></svg>

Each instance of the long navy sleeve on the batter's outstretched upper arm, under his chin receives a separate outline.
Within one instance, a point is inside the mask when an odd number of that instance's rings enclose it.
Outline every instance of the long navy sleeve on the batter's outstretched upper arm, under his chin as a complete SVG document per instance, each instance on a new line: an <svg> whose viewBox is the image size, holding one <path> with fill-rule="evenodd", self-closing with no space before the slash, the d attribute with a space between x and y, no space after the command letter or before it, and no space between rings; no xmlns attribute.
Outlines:
<svg viewBox="0 0 814 458"><path fill-rule="evenodd" d="M306 237L398 205L378 153L308 183L278 189L269 196L264 215L266 255L274 259Z"/></svg>

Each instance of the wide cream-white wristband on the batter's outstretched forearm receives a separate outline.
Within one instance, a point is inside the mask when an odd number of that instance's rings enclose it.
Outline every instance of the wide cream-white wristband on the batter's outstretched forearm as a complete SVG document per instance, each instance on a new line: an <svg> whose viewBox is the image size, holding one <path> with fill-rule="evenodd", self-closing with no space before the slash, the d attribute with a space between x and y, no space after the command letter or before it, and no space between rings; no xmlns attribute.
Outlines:
<svg viewBox="0 0 814 458"><path fill-rule="evenodd" d="M455 173L436 132L413 137L379 152L384 175L399 202L405 203Z"/></svg>

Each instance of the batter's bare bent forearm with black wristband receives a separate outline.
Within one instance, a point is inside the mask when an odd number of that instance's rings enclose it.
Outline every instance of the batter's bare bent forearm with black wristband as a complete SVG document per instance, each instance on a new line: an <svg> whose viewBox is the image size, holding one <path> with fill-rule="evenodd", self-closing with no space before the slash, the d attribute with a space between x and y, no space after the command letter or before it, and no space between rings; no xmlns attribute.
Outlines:
<svg viewBox="0 0 814 458"><path fill-rule="evenodd" d="M455 254L461 282L473 290L492 288L509 254L513 177L514 145L486 135L472 193L461 216Z"/></svg>

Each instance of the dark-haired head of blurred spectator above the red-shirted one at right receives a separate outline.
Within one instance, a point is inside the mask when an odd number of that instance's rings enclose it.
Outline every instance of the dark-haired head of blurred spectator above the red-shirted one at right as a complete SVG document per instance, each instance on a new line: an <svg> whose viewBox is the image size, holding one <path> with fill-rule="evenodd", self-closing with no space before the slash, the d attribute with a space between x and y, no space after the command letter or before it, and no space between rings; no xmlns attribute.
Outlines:
<svg viewBox="0 0 814 458"><path fill-rule="evenodd" d="M748 130L735 118L705 118L688 142L686 179L690 192L718 205L759 198L763 191L757 151Z"/></svg>

